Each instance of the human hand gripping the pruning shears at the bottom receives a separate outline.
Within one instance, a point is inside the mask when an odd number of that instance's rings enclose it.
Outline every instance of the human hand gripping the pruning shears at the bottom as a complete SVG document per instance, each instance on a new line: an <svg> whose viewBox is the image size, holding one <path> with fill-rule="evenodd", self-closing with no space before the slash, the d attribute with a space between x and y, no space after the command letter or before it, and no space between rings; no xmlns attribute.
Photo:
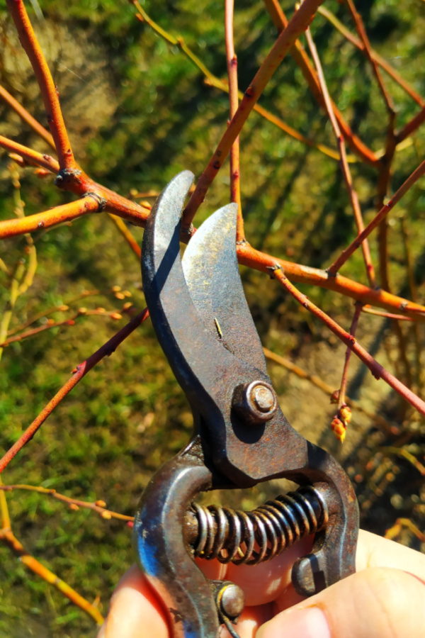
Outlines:
<svg viewBox="0 0 425 638"><path fill-rule="evenodd" d="M425 636L425 556L368 532L360 532L357 573L312 598L290 582L305 539L268 563L221 565L198 561L208 578L237 583L246 608L241 638L402 638ZM169 638L161 602L137 566L121 578L98 638ZM221 638L229 638L222 629Z"/></svg>

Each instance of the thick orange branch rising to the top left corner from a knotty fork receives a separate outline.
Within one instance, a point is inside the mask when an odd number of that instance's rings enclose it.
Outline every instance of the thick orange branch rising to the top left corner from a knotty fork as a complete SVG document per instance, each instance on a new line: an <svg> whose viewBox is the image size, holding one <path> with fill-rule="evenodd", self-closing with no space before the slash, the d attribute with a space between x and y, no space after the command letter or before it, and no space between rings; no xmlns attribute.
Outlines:
<svg viewBox="0 0 425 638"><path fill-rule="evenodd" d="M52 74L47 66L38 40L35 37L25 5L23 4L23 0L7 0L7 4L16 30L18 31L21 44L28 55L35 77L37 78L38 86L40 86L40 92L47 114L47 122L50 126L52 138L55 141L57 159L59 160L60 167L61 169L73 171L78 167L72 153L67 128L65 127L64 118L62 116L57 87L55 86L55 82L53 82Z"/></svg>

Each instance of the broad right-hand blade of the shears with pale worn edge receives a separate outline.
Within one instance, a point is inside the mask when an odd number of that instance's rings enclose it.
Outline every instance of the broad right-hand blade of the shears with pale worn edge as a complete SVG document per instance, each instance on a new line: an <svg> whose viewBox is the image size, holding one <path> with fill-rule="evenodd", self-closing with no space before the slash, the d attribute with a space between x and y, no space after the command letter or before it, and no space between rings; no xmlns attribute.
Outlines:
<svg viewBox="0 0 425 638"><path fill-rule="evenodd" d="M181 265L200 318L235 357L267 373L263 347L246 303L236 254L237 204L198 228Z"/></svg>

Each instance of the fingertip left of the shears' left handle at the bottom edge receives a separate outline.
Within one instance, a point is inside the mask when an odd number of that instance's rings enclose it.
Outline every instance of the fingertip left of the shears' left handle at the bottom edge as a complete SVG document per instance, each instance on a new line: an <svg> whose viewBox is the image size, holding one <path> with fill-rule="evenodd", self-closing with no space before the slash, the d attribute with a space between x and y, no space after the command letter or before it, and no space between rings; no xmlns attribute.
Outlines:
<svg viewBox="0 0 425 638"><path fill-rule="evenodd" d="M137 565L125 572L115 589L98 638L168 638L161 603Z"/></svg>

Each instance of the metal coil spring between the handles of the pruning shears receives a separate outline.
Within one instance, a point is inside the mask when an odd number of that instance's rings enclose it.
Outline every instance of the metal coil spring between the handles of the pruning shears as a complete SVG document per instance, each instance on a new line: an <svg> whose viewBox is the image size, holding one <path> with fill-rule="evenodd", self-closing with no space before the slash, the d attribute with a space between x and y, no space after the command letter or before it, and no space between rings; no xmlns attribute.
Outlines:
<svg viewBox="0 0 425 638"><path fill-rule="evenodd" d="M192 503L186 514L186 536L194 556L256 565L321 530L328 519L322 494L303 486L251 512Z"/></svg>

